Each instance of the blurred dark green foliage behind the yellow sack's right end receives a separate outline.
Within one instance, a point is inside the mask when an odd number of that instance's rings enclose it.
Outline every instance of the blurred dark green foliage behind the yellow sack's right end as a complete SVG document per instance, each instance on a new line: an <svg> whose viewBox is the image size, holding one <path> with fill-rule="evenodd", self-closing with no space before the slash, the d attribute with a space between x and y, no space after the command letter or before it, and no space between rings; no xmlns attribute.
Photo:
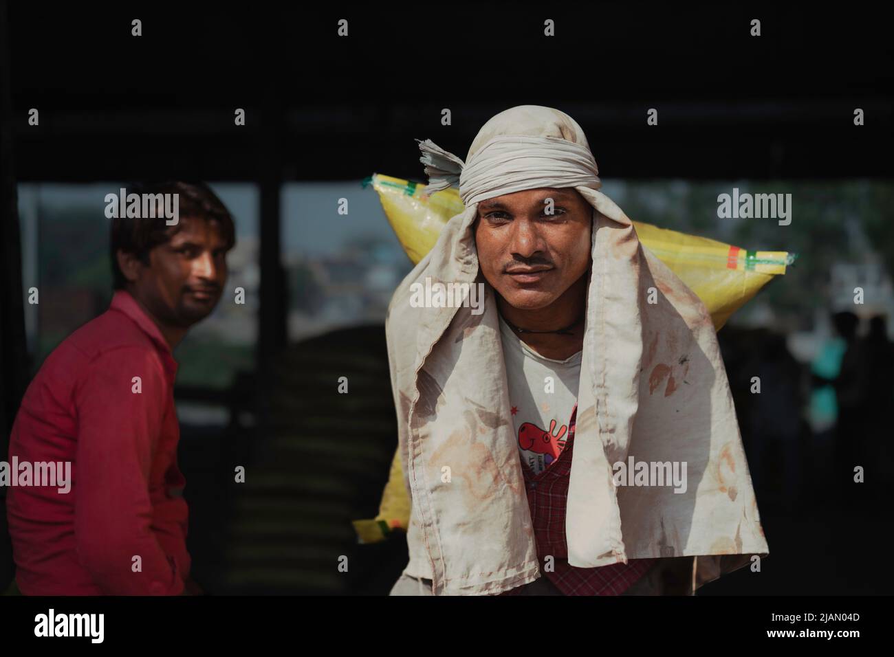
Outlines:
<svg viewBox="0 0 894 657"><path fill-rule="evenodd" d="M791 223L719 218L717 196L733 187L740 195L791 194ZM644 181L625 185L623 198L616 200L637 221L741 248L797 253L795 265L760 295L777 316L803 329L812 326L816 307L828 305L833 264L862 263L871 248L889 274L894 272L894 181ZM856 234L860 229L866 244Z"/></svg>

